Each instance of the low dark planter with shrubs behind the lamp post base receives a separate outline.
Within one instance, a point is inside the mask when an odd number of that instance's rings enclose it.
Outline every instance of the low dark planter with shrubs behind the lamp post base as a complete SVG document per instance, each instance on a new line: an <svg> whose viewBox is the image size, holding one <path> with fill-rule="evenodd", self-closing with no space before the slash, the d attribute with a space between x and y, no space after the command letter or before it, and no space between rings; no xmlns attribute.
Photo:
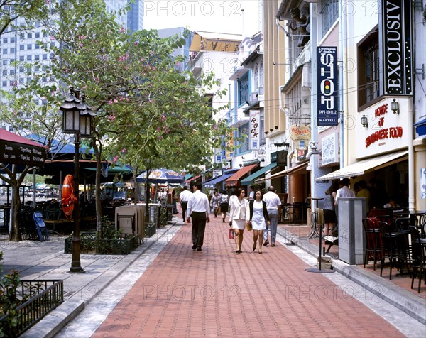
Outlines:
<svg viewBox="0 0 426 338"><path fill-rule="evenodd" d="M80 235L80 254L127 255L140 244L138 234L122 234L119 238L99 239L94 233ZM72 236L65 239L65 254L72 253Z"/></svg>

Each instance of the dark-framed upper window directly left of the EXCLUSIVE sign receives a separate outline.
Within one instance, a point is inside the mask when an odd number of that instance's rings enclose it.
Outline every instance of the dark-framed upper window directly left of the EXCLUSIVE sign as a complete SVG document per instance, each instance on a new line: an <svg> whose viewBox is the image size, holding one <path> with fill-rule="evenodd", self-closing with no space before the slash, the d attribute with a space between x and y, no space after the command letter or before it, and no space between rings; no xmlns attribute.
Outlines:
<svg viewBox="0 0 426 338"><path fill-rule="evenodd" d="M379 97L378 26L358 44L358 107L371 105Z"/></svg>

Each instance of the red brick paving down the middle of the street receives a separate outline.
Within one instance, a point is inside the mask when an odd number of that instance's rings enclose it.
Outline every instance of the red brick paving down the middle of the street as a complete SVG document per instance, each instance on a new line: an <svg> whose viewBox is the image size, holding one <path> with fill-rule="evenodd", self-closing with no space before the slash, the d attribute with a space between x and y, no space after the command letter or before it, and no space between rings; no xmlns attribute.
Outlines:
<svg viewBox="0 0 426 338"><path fill-rule="evenodd" d="M236 255L228 228L212 217L192 251L182 227L93 337L403 337L285 246L244 231Z"/></svg>

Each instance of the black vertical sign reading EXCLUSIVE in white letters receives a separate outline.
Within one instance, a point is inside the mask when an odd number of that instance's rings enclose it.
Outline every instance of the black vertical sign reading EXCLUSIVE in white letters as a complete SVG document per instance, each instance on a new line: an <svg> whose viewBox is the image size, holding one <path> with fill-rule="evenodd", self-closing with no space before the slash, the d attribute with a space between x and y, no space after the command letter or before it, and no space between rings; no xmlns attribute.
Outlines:
<svg viewBox="0 0 426 338"><path fill-rule="evenodd" d="M383 95L413 94L411 1L381 0L378 26Z"/></svg>

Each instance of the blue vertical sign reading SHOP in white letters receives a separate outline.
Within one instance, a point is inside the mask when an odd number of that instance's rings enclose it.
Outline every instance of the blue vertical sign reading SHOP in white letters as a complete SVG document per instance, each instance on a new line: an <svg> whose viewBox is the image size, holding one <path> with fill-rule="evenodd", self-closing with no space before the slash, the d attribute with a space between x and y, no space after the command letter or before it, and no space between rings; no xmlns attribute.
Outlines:
<svg viewBox="0 0 426 338"><path fill-rule="evenodd" d="M337 47L317 47L317 125L337 126Z"/></svg>

